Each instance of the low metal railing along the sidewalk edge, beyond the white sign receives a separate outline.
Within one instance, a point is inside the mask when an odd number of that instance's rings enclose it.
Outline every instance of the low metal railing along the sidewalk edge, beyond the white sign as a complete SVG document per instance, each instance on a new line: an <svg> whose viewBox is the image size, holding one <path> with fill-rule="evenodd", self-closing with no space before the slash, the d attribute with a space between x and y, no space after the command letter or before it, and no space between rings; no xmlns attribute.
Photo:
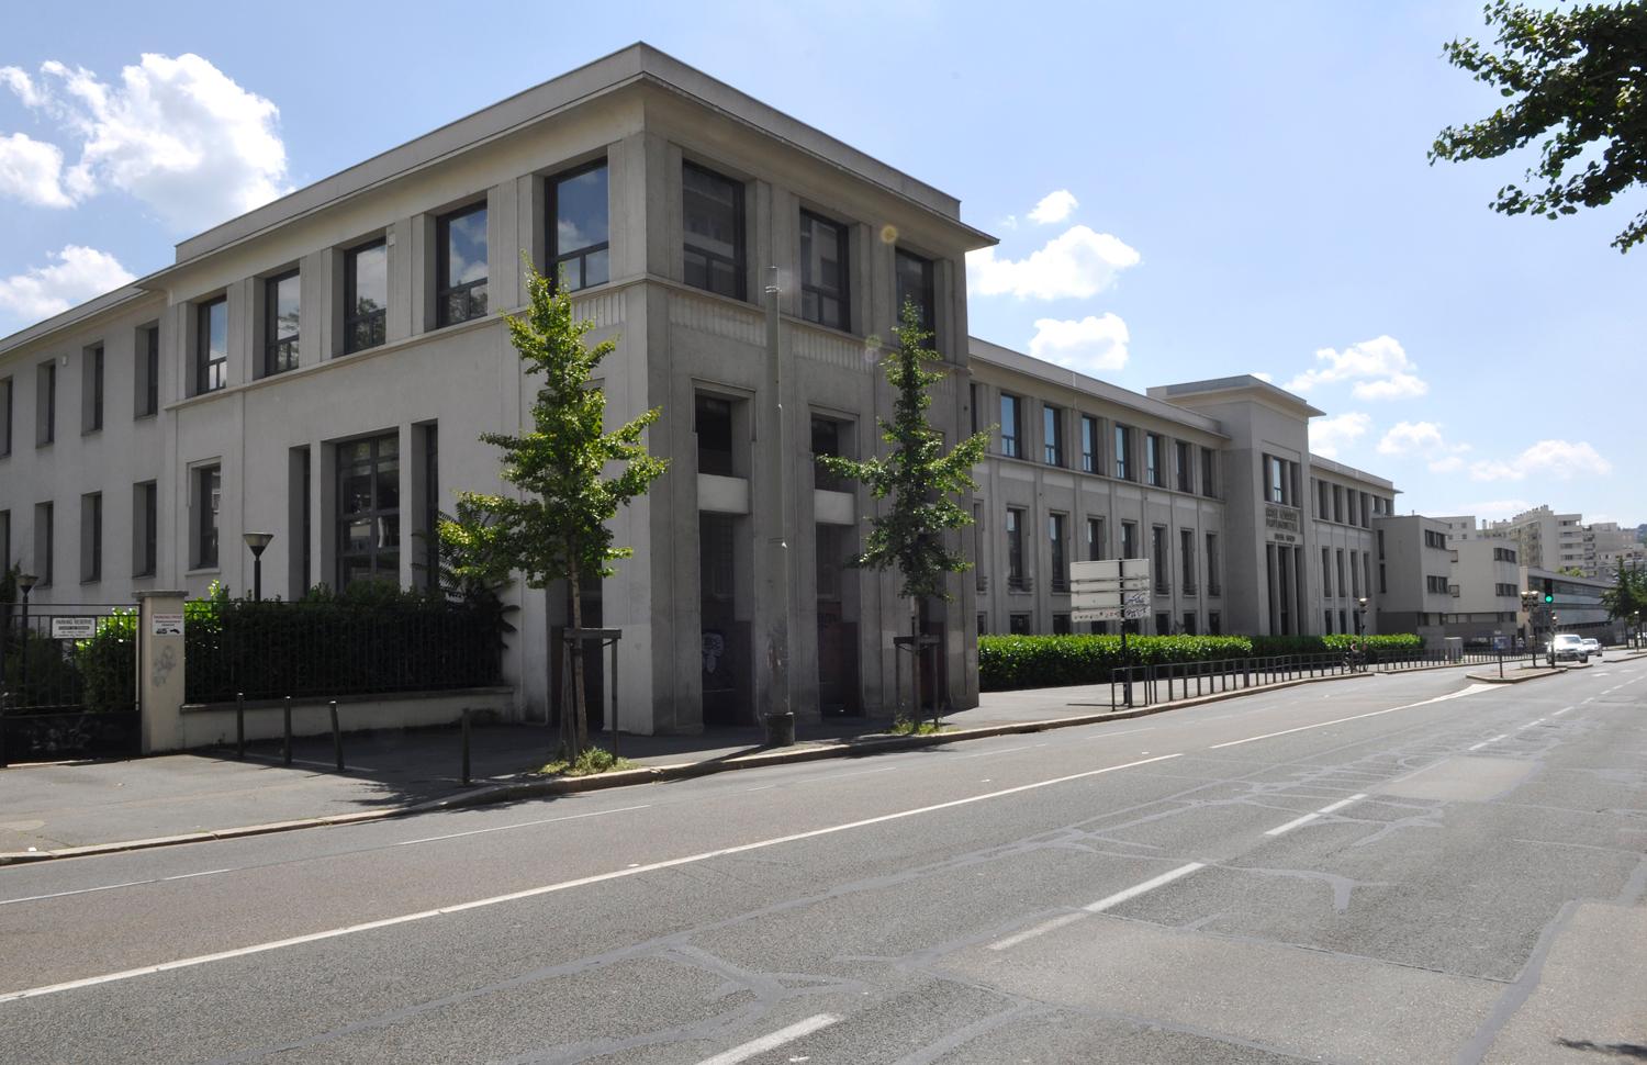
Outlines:
<svg viewBox="0 0 1647 1065"><path fill-rule="evenodd" d="M1151 706L1222 691L1262 688L1290 680L1337 677L1344 673L1398 673L1438 665L1500 665L1527 660L1499 652L1324 652L1313 655L1268 655L1219 662L1163 662L1123 665L1110 670L1110 709Z"/></svg>

